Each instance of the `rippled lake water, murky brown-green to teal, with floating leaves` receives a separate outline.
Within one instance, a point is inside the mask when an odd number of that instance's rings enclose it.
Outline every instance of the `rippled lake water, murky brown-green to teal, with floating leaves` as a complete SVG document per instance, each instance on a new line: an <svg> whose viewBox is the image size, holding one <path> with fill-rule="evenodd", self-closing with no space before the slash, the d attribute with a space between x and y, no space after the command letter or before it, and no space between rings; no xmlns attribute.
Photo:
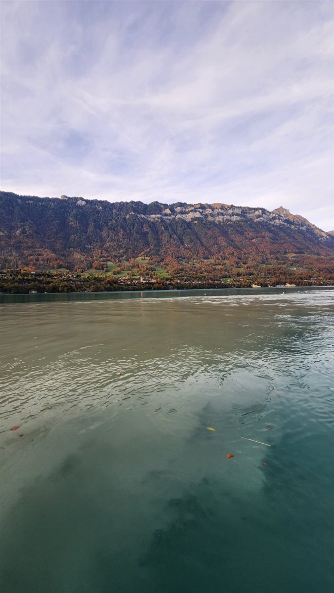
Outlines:
<svg viewBox="0 0 334 593"><path fill-rule="evenodd" d="M332 593L333 305L2 297L2 591Z"/></svg>

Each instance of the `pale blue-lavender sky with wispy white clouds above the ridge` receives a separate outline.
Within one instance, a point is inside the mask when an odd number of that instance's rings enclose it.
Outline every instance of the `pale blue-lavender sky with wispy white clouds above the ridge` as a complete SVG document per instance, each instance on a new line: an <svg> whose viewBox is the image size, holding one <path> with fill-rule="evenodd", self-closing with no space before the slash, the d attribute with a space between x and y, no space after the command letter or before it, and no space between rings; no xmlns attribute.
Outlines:
<svg viewBox="0 0 334 593"><path fill-rule="evenodd" d="M334 229L334 2L2 0L1 189Z"/></svg>

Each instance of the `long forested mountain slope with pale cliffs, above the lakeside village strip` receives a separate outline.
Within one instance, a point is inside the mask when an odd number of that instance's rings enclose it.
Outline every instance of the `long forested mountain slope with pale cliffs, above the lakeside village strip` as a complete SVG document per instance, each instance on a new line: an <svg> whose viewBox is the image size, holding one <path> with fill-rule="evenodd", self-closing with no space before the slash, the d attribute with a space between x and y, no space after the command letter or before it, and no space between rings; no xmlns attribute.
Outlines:
<svg viewBox="0 0 334 593"><path fill-rule="evenodd" d="M167 205L0 194L0 267L91 267L141 255L161 262L284 254L332 258L334 237L292 215L227 204Z"/></svg>

